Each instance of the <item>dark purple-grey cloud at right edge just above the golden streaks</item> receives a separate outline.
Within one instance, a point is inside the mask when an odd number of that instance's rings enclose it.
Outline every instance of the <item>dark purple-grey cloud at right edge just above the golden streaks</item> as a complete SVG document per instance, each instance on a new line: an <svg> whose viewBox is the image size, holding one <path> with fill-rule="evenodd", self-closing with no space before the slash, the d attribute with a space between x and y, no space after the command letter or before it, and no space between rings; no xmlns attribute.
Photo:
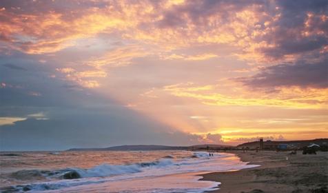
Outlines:
<svg viewBox="0 0 328 193"><path fill-rule="evenodd" d="M328 88L328 60L318 63L298 62L294 65L274 65L261 70L253 77L238 80L252 88L293 85Z"/></svg>

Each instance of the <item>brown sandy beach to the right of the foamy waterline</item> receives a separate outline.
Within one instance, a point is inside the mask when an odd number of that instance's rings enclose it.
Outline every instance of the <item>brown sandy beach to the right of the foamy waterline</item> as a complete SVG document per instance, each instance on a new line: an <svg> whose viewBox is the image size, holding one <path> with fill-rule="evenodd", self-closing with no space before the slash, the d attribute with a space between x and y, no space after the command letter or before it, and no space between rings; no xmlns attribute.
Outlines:
<svg viewBox="0 0 328 193"><path fill-rule="evenodd" d="M235 172L214 172L203 180L219 181L219 193L328 192L328 152L296 155L289 152L232 152L242 161L260 165Z"/></svg>

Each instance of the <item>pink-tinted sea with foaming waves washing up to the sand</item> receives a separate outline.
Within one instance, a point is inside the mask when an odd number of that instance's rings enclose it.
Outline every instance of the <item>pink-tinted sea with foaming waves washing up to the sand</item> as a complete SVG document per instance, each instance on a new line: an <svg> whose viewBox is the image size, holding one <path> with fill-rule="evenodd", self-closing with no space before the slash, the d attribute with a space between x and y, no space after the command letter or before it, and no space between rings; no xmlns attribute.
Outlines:
<svg viewBox="0 0 328 193"><path fill-rule="evenodd" d="M221 183L201 174L256 166L224 152L0 152L0 192L209 192Z"/></svg>

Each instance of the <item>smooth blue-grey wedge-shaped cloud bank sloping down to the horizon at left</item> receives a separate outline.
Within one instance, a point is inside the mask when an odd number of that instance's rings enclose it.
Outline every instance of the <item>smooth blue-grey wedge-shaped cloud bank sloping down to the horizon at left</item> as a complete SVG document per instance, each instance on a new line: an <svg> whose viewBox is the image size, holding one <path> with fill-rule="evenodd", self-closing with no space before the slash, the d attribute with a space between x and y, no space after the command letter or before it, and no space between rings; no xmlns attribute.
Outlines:
<svg viewBox="0 0 328 193"><path fill-rule="evenodd" d="M197 143L192 134L158 123L92 90L66 88L65 81L45 76L46 72L24 73L21 80L15 76L19 70L0 73L8 82L25 82L23 88L0 89L1 150ZM36 89L41 97L26 94Z"/></svg>

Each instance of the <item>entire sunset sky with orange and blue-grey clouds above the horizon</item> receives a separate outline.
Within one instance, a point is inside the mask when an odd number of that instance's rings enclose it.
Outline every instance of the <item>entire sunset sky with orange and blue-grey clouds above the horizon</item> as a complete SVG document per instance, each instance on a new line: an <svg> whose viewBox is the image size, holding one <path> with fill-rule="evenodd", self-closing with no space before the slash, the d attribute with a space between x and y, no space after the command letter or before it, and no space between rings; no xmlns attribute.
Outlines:
<svg viewBox="0 0 328 193"><path fill-rule="evenodd" d="M0 150L325 138L328 1L2 0Z"/></svg>

